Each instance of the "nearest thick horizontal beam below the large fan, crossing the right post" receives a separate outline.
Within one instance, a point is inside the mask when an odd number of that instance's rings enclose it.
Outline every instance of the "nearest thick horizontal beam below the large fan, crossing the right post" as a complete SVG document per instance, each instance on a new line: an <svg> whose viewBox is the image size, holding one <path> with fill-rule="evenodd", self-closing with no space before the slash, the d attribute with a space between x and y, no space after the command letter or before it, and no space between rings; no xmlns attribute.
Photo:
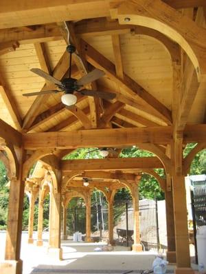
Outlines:
<svg viewBox="0 0 206 274"><path fill-rule="evenodd" d="M183 142L205 142L206 125L187 125ZM89 129L70 132L23 134L25 149L77 149L78 147L124 147L151 143L167 145L172 141L172 127L133 127Z"/></svg>

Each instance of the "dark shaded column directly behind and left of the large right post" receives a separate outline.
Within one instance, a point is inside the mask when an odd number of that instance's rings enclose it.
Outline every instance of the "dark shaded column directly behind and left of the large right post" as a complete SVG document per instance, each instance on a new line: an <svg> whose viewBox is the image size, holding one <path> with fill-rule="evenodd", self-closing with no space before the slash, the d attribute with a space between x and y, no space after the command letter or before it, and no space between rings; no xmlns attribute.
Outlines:
<svg viewBox="0 0 206 274"><path fill-rule="evenodd" d="M168 262L176 262L176 248L174 236L174 210L172 191L165 190L165 208L166 208L166 222L167 222L167 238L168 238Z"/></svg>

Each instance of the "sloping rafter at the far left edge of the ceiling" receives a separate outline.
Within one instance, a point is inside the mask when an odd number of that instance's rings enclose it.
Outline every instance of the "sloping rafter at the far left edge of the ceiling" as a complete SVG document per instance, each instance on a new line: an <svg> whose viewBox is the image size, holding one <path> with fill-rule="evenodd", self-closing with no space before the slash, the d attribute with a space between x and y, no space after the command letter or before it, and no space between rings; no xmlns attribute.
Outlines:
<svg viewBox="0 0 206 274"><path fill-rule="evenodd" d="M22 126L22 119L19 114L18 109L16 108L16 102L14 101L14 98L11 95L10 89L7 84L5 84L5 81L3 77L0 75L0 92L1 97L3 99L3 102L5 103L6 108L8 109L8 112L12 118L12 121L19 131L21 131Z"/></svg>

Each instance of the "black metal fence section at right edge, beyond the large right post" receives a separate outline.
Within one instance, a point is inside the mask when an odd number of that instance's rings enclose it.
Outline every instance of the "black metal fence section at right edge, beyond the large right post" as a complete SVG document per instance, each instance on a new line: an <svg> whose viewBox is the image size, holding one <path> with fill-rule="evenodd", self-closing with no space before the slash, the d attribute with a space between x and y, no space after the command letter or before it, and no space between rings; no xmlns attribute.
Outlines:
<svg viewBox="0 0 206 274"><path fill-rule="evenodd" d="M194 229L194 245L195 245L195 256L196 263L198 263L197 247L196 247L196 230L206 225L206 187L194 188L191 191L192 200L192 219Z"/></svg>

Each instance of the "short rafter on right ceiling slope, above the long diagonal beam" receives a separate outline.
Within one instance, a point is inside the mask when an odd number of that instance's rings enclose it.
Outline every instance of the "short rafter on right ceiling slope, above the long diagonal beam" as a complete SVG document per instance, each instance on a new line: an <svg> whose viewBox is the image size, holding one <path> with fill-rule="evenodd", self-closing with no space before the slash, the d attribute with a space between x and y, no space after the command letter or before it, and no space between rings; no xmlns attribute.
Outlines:
<svg viewBox="0 0 206 274"><path fill-rule="evenodd" d="M122 65L122 55L121 55L119 35L112 35L111 38L113 42L113 53L115 56L116 73L119 78L123 79L124 71L123 71L123 65Z"/></svg>

